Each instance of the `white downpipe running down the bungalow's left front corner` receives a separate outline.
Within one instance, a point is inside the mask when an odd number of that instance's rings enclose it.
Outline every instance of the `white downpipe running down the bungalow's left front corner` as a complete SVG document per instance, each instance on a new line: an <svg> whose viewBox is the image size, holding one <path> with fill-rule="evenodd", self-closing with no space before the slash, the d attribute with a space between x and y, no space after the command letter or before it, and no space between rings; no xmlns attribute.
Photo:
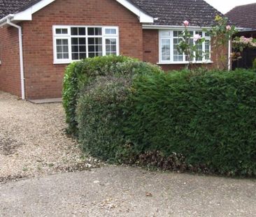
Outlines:
<svg viewBox="0 0 256 217"><path fill-rule="evenodd" d="M6 24L9 24L12 27L15 27L19 31L19 48L20 48L20 80L21 80L21 91L22 91L22 100L25 99L25 84L24 84L24 62L23 62L23 49L22 49L22 27L10 22L10 18L13 17L13 15L8 15L7 17L3 17L3 22L6 21ZM1 21L0 20L0 25Z"/></svg>

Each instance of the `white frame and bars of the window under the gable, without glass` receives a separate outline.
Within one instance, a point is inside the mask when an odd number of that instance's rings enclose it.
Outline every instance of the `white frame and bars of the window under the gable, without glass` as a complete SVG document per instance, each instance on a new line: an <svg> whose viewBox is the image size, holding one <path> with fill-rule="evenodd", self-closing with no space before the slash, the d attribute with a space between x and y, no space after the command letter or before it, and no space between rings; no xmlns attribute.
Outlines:
<svg viewBox="0 0 256 217"><path fill-rule="evenodd" d="M71 36L71 28L72 27L83 27L85 28L85 36ZM88 36L87 28L101 28L102 35L101 36ZM66 34L57 34L56 29L68 29L68 33ZM106 34L106 29L115 29L116 34ZM53 25L52 26L52 45L53 45L53 63L54 64L66 64L72 63L72 50L71 50L71 38L85 38L86 40L86 58L88 58L89 50L88 50L88 38L102 38L102 56L106 56L106 39L116 39L116 55L120 55L120 45L119 45L119 28L118 27L110 27L110 26L81 26L81 25ZM57 59L57 39L68 39L69 42L69 59Z"/></svg>

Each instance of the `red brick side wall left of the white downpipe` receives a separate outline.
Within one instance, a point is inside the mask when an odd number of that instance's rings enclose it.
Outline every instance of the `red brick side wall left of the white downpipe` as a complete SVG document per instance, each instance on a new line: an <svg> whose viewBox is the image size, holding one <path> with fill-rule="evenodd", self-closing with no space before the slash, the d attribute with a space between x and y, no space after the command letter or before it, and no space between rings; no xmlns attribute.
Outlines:
<svg viewBox="0 0 256 217"><path fill-rule="evenodd" d="M18 31L0 27L0 90L21 96Z"/></svg>

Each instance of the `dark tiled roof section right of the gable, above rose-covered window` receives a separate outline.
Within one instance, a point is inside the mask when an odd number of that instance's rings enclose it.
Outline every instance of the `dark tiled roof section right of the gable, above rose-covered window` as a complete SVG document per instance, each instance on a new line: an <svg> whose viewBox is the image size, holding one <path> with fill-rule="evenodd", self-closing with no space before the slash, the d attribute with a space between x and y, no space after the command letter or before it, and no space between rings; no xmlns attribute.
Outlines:
<svg viewBox="0 0 256 217"><path fill-rule="evenodd" d="M155 25L182 26L188 20L194 27L210 27L222 15L204 0L130 0L158 20Z"/></svg>

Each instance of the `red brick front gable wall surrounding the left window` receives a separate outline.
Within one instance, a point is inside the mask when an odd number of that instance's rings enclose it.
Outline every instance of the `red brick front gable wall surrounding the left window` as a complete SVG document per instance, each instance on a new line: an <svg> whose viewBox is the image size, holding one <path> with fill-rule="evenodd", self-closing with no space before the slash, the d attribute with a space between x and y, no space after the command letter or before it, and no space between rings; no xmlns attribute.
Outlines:
<svg viewBox="0 0 256 217"><path fill-rule="evenodd" d="M113 0L57 0L22 22L27 98L62 96L65 64L53 64L52 25L118 26L120 54L143 59L138 17Z"/></svg>

